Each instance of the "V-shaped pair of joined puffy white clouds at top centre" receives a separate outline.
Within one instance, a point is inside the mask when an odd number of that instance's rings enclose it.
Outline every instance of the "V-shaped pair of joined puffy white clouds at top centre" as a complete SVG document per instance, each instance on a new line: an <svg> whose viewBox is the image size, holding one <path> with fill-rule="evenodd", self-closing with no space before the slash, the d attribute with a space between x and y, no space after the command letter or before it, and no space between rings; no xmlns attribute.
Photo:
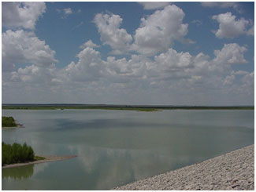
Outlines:
<svg viewBox="0 0 256 192"><path fill-rule="evenodd" d="M165 9L157 10L150 16L141 19L140 27L135 30L132 38L121 28L121 16L113 13L98 13L94 22L98 27L103 45L110 45L113 54L135 51L151 56L165 52L174 41L194 43L184 38L188 24L183 24L184 12L176 5L167 5ZM134 41L132 41L134 40Z"/></svg>

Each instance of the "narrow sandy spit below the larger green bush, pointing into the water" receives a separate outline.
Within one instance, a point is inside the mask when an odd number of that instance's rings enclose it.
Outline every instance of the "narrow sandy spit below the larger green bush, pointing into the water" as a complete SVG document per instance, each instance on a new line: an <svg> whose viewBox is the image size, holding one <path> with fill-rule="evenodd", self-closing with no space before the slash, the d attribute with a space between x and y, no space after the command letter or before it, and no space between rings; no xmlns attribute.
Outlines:
<svg viewBox="0 0 256 192"><path fill-rule="evenodd" d="M51 162L51 161L63 161L63 160L70 159L70 158L76 158L77 156L76 155L69 155L69 156L39 155L39 157L43 157L45 159L39 160L39 161L29 161L29 162L25 162L25 163L15 163L15 164L10 164L10 165L4 165L4 166L2 166L2 169L3 168L20 167L20 166L25 166L25 165L33 165L33 164L39 164L39 163L46 163L46 162Z"/></svg>

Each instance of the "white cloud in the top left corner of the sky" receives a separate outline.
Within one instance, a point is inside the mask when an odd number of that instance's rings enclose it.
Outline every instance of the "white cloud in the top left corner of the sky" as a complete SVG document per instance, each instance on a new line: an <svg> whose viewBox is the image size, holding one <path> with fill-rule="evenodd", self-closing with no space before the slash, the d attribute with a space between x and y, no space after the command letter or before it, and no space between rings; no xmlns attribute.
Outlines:
<svg viewBox="0 0 256 192"><path fill-rule="evenodd" d="M2 2L2 24L5 27L35 29L35 23L46 12L44 2Z"/></svg>

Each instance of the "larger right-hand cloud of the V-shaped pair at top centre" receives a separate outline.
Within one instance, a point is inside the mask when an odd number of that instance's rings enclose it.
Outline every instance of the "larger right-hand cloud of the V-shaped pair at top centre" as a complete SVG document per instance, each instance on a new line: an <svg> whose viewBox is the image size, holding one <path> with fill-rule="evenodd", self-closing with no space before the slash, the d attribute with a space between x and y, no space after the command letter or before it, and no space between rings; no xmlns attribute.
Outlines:
<svg viewBox="0 0 256 192"><path fill-rule="evenodd" d="M183 41L187 24L183 24L184 12L176 5L168 5L161 11L141 19L135 31L132 49L147 55L169 49L174 40Z"/></svg>

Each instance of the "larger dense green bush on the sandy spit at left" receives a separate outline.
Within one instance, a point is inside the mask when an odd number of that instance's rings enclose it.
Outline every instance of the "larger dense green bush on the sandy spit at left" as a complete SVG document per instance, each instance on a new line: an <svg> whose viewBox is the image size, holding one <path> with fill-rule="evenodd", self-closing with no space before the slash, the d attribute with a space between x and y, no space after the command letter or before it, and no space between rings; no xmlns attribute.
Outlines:
<svg viewBox="0 0 256 192"><path fill-rule="evenodd" d="M19 143L10 145L2 142L2 165L34 161L34 156L34 150L26 143L21 146Z"/></svg>

